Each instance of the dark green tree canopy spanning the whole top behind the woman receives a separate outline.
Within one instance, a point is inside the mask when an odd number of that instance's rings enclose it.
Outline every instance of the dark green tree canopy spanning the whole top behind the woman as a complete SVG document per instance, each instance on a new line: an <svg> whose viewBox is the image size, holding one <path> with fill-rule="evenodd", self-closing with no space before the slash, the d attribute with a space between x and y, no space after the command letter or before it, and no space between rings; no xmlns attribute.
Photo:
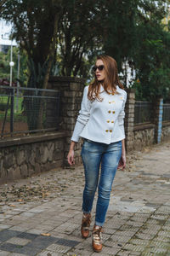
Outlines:
<svg viewBox="0 0 170 256"><path fill-rule="evenodd" d="M136 71L132 87L137 98L167 97L169 93L170 35L161 20L167 0L8 0L3 18L14 22L13 37L29 59L28 86L42 88L54 55L51 73L92 79L95 56L113 56ZM56 19L57 26L56 25ZM57 37L54 35L57 32ZM57 38L57 49L51 44ZM31 60L31 61L30 61ZM46 66L47 65L47 66ZM5 68L4 68L5 71ZM7 72L8 73L8 72ZM32 86L33 84L33 86Z"/></svg>

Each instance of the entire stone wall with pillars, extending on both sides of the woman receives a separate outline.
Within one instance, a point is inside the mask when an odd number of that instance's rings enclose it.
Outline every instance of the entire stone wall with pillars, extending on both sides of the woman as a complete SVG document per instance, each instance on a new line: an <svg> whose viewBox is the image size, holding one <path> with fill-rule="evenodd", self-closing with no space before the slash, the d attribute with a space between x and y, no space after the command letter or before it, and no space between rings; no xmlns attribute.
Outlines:
<svg viewBox="0 0 170 256"><path fill-rule="evenodd" d="M52 122L56 124L56 129L59 131L26 137L3 138L0 141L0 183L68 165L66 156L77 114L81 108L84 83L83 79L77 78L54 77L49 79L48 89L59 91L60 102L59 108L56 106L53 108L52 102L48 102L48 126L50 127ZM134 103L135 91L127 89L125 108L127 152L155 143L156 135L160 132L157 122L158 115L160 115L159 104L156 102L153 124L134 126ZM59 116L59 121L57 116ZM162 124L161 140L167 137L170 137L170 122ZM82 163L81 150L82 139L75 147L76 164Z"/></svg>

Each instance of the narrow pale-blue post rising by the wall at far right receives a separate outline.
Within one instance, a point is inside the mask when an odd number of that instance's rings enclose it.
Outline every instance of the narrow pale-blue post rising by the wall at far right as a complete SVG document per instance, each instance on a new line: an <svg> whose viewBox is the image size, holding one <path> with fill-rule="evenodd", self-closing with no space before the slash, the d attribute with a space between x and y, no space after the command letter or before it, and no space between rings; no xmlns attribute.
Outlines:
<svg viewBox="0 0 170 256"><path fill-rule="evenodd" d="M162 116L163 116L163 99L157 98L155 105L155 142L161 143L161 128L162 128Z"/></svg>

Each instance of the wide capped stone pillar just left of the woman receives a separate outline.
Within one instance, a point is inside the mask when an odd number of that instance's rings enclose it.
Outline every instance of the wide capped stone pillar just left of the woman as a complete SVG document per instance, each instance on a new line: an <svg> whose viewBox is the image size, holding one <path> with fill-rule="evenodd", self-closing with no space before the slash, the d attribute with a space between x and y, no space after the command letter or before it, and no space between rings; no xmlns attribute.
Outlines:
<svg viewBox="0 0 170 256"><path fill-rule="evenodd" d="M51 77L48 82L48 89L60 91L59 104L59 130L65 131L65 156L63 165L68 166L66 156L71 143L71 135L77 120L78 111L81 108L82 93L85 79L74 77ZM82 140L75 146L75 163L81 163Z"/></svg>

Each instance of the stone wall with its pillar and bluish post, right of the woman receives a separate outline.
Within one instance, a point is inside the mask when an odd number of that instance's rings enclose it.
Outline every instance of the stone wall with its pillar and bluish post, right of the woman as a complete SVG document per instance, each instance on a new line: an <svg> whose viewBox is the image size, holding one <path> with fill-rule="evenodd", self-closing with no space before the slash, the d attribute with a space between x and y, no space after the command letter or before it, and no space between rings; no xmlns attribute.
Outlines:
<svg viewBox="0 0 170 256"><path fill-rule="evenodd" d="M170 122L162 123L163 101L156 98L153 102L153 119L150 124L134 125L135 90L127 89L127 103L125 108L126 149L141 150L153 143L160 143L170 138Z"/></svg>

